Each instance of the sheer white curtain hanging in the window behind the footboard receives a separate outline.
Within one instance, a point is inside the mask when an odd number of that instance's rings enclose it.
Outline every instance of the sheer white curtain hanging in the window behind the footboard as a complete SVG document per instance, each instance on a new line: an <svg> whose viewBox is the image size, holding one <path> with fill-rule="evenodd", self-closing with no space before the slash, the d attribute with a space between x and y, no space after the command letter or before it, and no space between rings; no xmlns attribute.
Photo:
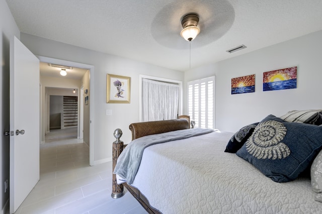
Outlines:
<svg viewBox="0 0 322 214"><path fill-rule="evenodd" d="M142 121L176 119L179 85L142 79Z"/></svg>

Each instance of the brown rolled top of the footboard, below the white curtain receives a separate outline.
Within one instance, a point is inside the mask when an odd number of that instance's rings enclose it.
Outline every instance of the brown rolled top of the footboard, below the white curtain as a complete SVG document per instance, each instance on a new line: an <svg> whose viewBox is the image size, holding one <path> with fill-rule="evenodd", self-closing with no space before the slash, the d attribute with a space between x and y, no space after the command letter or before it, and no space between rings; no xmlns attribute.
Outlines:
<svg viewBox="0 0 322 214"><path fill-rule="evenodd" d="M165 132L171 132L182 129L189 129L189 123L185 119L150 121L130 124L132 140L146 136Z"/></svg>

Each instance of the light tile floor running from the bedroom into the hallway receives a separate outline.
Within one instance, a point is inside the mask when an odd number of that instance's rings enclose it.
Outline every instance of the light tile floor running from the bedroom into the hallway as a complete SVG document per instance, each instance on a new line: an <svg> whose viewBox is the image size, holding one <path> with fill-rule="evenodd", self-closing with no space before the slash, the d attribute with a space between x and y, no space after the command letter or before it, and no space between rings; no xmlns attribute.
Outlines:
<svg viewBox="0 0 322 214"><path fill-rule="evenodd" d="M40 146L40 180L16 213L147 213L125 189L111 197L112 162L89 165L76 129L53 130Z"/></svg>

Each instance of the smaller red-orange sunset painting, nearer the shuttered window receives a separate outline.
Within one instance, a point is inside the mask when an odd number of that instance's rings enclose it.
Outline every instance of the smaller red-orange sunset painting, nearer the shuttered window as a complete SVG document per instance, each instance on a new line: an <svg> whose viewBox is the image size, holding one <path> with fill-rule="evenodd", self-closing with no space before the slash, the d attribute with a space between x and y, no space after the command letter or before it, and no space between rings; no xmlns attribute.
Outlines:
<svg viewBox="0 0 322 214"><path fill-rule="evenodd" d="M255 92L255 74L231 79L231 94Z"/></svg>

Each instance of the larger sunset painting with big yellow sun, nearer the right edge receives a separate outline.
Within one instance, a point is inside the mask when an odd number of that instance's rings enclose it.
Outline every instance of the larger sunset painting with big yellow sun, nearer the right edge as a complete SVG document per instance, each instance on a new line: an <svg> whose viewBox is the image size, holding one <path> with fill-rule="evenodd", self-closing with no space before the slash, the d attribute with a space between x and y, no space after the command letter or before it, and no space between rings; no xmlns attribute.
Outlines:
<svg viewBox="0 0 322 214"><path fill-rule="evenodd" d="M296 88L297 67L263 73L263 91Z"/></svg>

